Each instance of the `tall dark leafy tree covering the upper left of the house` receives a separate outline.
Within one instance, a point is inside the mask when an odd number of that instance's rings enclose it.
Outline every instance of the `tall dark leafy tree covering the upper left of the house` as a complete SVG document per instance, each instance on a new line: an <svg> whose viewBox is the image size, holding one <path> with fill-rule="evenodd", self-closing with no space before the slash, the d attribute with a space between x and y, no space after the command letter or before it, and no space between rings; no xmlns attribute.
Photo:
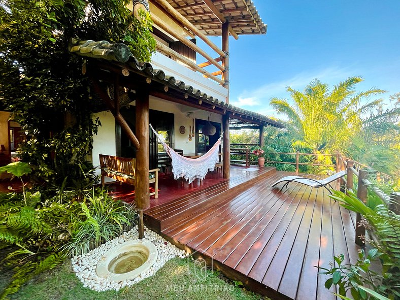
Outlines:
<svg viewBox="0 0 400 300"><path fill-rule="evenodd" d="M126 43L136 58L154 52L151 19L136 19L128 0L4 0L0 5L0 102L21 125L20 157L31 180L74 186L100 125L90 81L69 40ZM66 182L63 181L66 178ZM75 180L75 183L73 181Z"/></svg>

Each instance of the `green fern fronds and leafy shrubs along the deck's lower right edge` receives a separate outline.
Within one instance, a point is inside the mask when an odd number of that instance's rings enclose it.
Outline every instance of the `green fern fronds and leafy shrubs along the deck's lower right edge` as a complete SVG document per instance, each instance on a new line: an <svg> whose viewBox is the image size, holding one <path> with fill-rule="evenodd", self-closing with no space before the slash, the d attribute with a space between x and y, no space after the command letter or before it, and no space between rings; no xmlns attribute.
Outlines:
<svg viewBox="0 0 400 300"><path fill-rule="evenodd" d="M350 287L350 289L353 288L351 291L355 299L368 299L371 297L371 293L365 293L365 289L355 287L355 284L368 284L373 291L390 299L400 298L400 216L389 211L387 203L378 197L374 188L369 191L365 204L357 198L356 193L352 190L347 191L348 194L336 190L332 190L332 193L330 197L338 201L341 206L363 216L362 224L373 232L377 240L368 240L376 249L373 252L371 250L366 259L360 258L361 261L355 265L346 266L343 270L331 268L327 270L326 274L332 276L336 274L336 279L332 283L339 285L339 293L342 296L345 296L343 293L346 290L345 287ZM380 280L373 281L370 278L372 273L368 270L369 261L377 257L382 262L382 275L379 276ZM337 262L338 259L338 257L335 258ZM339 280L337 272L340 273ZM374 274L374 276L378 275ZM355 297L356 294L358 298ZM374 296L371 298L373 299Z"/></svg>

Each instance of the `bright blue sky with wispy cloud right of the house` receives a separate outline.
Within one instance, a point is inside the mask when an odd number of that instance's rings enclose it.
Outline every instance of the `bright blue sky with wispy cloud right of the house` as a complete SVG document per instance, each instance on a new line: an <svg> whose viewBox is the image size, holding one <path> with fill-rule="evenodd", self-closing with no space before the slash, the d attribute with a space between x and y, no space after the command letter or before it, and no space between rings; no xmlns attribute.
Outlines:
<svg viewBox="0 0 400 300"><path fill-rule="evenodd" d="M400 0L253 2L268 31L230 38L231 104L274 116L271 97L315 78L362 76L358 90L400 92Z"/></svg>

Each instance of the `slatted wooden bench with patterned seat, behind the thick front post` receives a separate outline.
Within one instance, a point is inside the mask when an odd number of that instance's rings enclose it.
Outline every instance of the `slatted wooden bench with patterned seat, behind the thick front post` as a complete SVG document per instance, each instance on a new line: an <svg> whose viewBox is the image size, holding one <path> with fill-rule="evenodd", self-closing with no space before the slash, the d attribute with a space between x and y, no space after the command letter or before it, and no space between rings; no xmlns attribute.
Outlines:
<svg viewBox="0 0 400 300"><path fill-rule="evenodd" d="M135 180L135 167L136 158L125 158L119 156L103 155L99 154L100 168L102 170L102 185L104 186L104 178L109 177L130 185L136 184ZM154 192L150 195L154 195L158 198L158 171L160 169L153 169L149 171L149 183L154 183Z"/></svg>

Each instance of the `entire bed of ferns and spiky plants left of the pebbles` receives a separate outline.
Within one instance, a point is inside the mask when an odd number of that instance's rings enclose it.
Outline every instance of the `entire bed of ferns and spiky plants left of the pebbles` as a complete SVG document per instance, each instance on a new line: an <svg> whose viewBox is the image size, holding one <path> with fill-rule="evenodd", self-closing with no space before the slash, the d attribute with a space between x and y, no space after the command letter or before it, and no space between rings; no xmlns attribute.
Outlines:
<svg viewBox="0 0 400 300"><path fill-rule="evenodd" d="M0 172L4 170L22 178L30 167L18 162ZM22 195L0 193L0 249L8 248L5 262L14 271L0 299L68 255L86 253L117 237L135 219L131 206L114 201L104 189L86 192L80 203L63 202L59 196L43 201L40 192L25 190Z"/></svg>

